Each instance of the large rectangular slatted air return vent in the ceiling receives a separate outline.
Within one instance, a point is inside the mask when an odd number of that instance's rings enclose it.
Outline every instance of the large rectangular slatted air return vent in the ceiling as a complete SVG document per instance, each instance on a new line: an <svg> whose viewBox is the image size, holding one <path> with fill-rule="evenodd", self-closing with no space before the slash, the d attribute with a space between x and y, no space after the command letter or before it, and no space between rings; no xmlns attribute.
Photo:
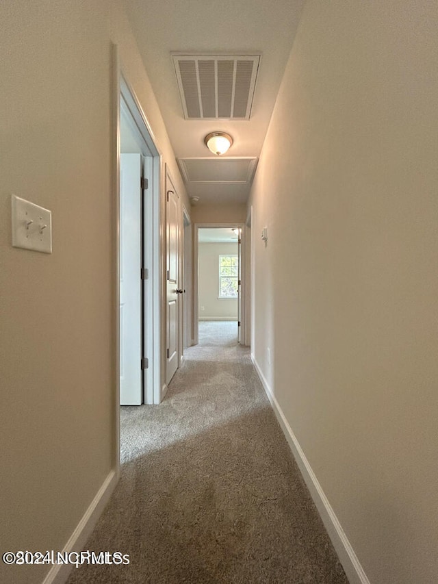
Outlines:
<svg viewBox="0 0 438 584"><path fill-rule="evenodd" d="M186 120L249 120L260 55L172 53Z"/></svg>

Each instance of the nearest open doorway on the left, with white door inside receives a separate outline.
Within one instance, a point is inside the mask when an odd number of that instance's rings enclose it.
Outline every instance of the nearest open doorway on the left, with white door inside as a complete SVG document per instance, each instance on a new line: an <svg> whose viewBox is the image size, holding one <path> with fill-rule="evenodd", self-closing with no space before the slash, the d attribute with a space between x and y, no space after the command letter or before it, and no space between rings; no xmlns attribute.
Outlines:
<svg viewBox="0 0 438 584"><path fill-rule="evenodd" d="M120 76L118 355L120 405L159 403L159 152Z"/></svg>

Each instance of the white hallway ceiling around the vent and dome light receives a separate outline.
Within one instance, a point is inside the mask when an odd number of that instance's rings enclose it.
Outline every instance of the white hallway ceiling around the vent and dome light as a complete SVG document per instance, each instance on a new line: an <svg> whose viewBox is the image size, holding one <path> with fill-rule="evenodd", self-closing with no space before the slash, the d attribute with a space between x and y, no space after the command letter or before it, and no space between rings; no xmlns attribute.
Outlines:
<svg viewBox="0 0 438 584"><path fill-rule="evenodd" d="M233 145L220 160L259 157L276 94L292 49L304 0L125 0L127 14L177 159L218 160L204 138L225 131ZM261 53L250 120L185 120L172 53L250 55ZM195 159L195 160L193 160ZM219 161L218 161L219 162ZM257 161L256 161L257 162ZM212 181L185 181L198 204L244 202L247 181L233 181L227 168ZM218 180L219 178L219 180Z"/></svg>

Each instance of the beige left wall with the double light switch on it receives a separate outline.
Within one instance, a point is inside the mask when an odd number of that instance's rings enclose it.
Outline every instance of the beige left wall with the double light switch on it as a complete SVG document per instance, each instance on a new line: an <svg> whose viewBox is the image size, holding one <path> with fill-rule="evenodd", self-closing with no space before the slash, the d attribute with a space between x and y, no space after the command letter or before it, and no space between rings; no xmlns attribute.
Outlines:
<svg viewBox="0 0 438 584"><path fill-rule="evenodd" d="M189 205L116 6L6 0L0 21L0 540L62 550L115 464L112 41ZM51 255L12 248L12 192L52 211Z"/></svg>

